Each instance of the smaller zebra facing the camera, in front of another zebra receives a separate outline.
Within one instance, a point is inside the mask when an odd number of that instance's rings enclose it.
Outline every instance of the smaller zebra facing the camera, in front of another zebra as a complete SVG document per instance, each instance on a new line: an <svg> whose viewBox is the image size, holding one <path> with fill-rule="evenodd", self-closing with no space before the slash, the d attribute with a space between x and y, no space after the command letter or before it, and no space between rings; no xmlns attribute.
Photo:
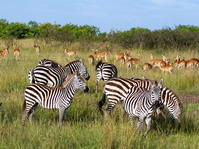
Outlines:
<svg viewBox="0 0 199 149"><path fill-rule="evenodd" d="M124 100L124 111L129 114L131 125L133 125L133 118L138 117L137 129L143 130L145 120L147 125L145 135L150 130L152 115L162 105L161 88L162 80L158 84L153 83L149 91L140 86L133 86Z"/></svg>

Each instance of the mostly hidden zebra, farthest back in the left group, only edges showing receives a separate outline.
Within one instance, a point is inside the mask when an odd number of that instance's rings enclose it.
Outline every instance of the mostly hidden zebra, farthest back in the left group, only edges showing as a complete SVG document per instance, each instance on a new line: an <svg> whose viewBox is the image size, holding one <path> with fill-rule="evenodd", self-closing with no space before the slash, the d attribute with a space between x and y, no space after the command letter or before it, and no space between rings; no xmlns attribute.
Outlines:
<svg viewBox="0 0 199 149"><path fill-rule="evenodd" d="M53 68L57 68L57 67L62 67L60 64L58 64L57 62L54 62L52 60L49 59L42 59L39 61L37 66L47 66L47 67L53 67ZM34 83L33 82L33 78L32 78L32 72L34 71L34 68L30 69L29 73L28 73L28 79L30 80L30 83Z"/></svg>

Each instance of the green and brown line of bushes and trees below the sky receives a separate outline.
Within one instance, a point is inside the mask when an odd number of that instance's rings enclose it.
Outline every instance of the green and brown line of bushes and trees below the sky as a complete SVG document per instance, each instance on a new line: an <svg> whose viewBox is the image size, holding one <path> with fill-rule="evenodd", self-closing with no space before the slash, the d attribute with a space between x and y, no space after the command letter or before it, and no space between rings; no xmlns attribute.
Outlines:
<svg viewBox="0 0 199 149"><path fill-rule="evenodd" d="M34 38L45 44L71 42L110 42L124 48L142 49L192 49L199 46L199 26L179 25L151 31L131 28L126 31L111 30L109 33L89 25L11 22L0 19L0 39Z"/></svg>

